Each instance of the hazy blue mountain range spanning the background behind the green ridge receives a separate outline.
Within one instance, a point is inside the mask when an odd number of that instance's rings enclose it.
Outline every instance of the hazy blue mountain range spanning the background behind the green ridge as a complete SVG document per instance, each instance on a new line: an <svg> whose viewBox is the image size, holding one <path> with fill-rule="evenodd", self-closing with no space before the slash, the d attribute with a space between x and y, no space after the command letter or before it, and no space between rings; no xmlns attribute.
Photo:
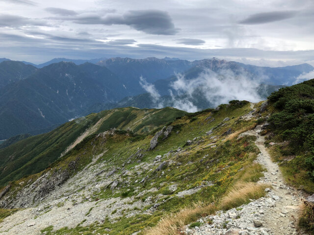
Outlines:
<svg viewBox="0 0 314 235"><path fill-rule="evenodd" d="M263 99L282 85L290 85L296 76L314 70L308 64L269 68L216 58L192 62L154 57L118 57L89 62L56 58L37 67L26 62L1 60L0 140L19 134L44 133L69 119L115 107L175 106L195 111L238 98L220 94L216 95L220 97L218 100L212 100L208 97L209 91L217 89L203 84L193 91L175 89L176 74L183 74L185 81L197 84L194 81L209 71L218 80L224 80L231 71L237 79L245 77L255 81L251 90ZM206 81L210 79L209 76ZM247 90L246 87L241 89ZM157 93L158 100L152 91ZM186 108L186 103L192 109Z"/></svg>

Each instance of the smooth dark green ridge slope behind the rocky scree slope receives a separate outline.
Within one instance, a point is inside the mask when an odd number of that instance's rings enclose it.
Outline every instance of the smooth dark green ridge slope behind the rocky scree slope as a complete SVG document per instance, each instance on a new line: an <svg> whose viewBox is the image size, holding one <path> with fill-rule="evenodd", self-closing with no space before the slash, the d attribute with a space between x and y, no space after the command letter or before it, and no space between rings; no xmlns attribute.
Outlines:
<svg viewBox="0 0 314 235"><path fill-rule="evenodd" d="M110 128L125 130L131 127L132 130L143 134L184 114L184 111L173 108L140 110L130 107L90 114L85 118L67 122L49 133L33 136L0 149L0 185L44 170L101 118L102 122L97 126L99 129L96 128L97 133ZM147 122L149 125L145 124Z"/></svg>

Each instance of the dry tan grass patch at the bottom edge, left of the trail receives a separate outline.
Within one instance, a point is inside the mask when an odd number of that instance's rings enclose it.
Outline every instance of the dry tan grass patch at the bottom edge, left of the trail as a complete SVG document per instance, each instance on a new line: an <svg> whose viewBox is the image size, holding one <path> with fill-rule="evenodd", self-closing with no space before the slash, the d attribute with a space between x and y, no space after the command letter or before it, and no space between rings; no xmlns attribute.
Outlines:
<svg viewBox="0 0 314 235"><path fill-rule="evenodd" d="M177 213L171 213L162 218L157 226L146 231L146 235L178 235L179 228L197 220L200 217L207 216L217 210L212 204L204 205L202 203L193 204Z"/></svg>

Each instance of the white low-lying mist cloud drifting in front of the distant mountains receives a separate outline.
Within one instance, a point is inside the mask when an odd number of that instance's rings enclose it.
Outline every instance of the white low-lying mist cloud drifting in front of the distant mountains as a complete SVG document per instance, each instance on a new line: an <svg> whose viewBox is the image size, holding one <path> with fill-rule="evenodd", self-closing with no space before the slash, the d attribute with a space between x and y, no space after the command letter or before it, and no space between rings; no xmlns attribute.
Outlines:
<svg viewBox="0 0 314 235"><path fill-rule="evenodd" d="M204 102L213 108L235 99L251 102L262 100L257 89L260 82L251 79L245 72L205 70L193 79L187 79L182 74L176 76L177 80L170 84L170 99L161 97L153 84L140 78L141 86L151 95L157 108L171 105L187 112L196 112L201 109L198 105Z"/></svg>

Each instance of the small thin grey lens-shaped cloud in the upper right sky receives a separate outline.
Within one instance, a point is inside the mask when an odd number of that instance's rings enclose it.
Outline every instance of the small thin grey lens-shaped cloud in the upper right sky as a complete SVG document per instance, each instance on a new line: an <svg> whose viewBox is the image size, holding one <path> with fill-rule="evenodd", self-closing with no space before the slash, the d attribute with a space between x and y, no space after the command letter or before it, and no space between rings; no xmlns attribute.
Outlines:
<svg viewBox="0 0 314 235"><path fill-rule="evenodd" d="M240 24L266 24L275 21L282 21L292 18L296 11L272 11L250 15L248 18L240 21Z"/></svg>

